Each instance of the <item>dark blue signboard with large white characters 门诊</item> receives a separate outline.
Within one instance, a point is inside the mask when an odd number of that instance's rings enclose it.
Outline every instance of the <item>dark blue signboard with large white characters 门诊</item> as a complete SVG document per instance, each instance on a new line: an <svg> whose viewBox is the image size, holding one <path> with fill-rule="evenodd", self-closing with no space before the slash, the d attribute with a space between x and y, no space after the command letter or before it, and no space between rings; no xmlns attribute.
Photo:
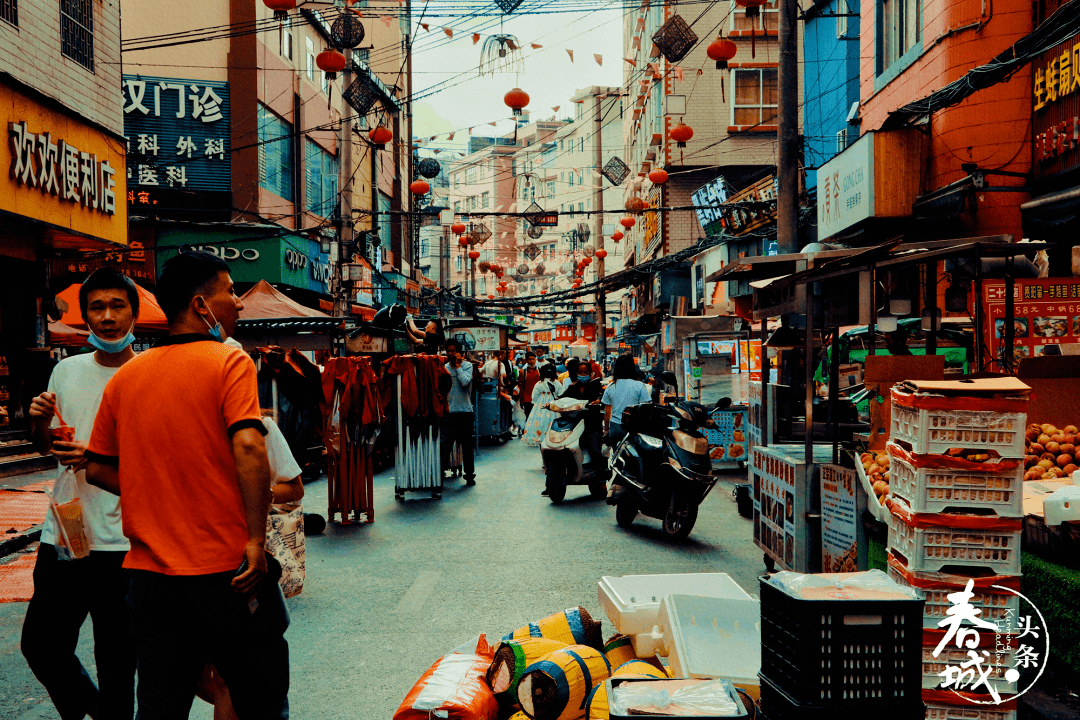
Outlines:
<svg viewBox="0 0 1080 720"><path fill-rule="evenodd" d="M125 74L121 87L131 212L231 215L229 83Z"/></svg>

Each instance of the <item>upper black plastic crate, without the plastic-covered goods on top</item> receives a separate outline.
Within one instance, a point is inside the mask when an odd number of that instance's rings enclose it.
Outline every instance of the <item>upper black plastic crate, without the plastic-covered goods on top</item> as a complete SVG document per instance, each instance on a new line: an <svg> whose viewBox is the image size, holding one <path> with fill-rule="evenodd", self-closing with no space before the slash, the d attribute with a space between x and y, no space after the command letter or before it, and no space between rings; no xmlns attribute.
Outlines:
<svg viewBox="0 0 1080 720"><path fill-rule="evenodd" d="M922 600L808 600L765 580L761 675L796 703L918 698Z"/></svg>

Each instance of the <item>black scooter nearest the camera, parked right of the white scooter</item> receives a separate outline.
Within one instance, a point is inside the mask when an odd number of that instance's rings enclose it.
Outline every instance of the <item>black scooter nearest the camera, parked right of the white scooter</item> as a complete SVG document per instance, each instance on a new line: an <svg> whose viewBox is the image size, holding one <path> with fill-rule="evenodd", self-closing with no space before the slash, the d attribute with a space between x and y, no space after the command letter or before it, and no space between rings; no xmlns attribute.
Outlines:
<svg viewBox="0 0 1080 720"><path fill-rule="evenodd" d="M675 384L672 373L664 376L667 384ZM724 397L715 407L730 405ZM708 440L701 433L715 424L708 408L690 400L643 403L623 411L626 435L611 454L615 479L608 498L619 527L629 528L642 513L661 520L664 535L672 540L690 534L698 507L716 485Z"/></svg>

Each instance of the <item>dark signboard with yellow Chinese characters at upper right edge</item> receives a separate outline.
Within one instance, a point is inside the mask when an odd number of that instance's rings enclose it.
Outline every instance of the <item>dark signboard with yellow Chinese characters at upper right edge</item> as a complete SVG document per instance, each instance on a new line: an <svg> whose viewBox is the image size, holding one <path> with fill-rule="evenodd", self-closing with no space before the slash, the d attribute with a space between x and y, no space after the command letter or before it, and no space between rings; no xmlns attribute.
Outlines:
<svg viewBox="0 0 1080 720"><path fill-rule="evenodd" d="M1080 164L1080 35L1031 63L1031 147L1036 178Z"/></svg>

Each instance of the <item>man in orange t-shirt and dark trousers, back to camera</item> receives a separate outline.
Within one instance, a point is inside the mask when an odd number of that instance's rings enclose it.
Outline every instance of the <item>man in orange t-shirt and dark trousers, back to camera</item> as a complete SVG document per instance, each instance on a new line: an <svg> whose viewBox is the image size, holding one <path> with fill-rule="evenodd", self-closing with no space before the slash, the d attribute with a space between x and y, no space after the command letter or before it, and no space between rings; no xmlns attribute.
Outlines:
<svg viewBox="0 0 1080 720"><path fill-rule="evenodd" d="M240 718L288 717L288 626L255 364L222 343L239 311L228 266L168 260L158 281L168 337L105 388L86 479L120 495L141 720L186 718L212 662Z"/></svg>

